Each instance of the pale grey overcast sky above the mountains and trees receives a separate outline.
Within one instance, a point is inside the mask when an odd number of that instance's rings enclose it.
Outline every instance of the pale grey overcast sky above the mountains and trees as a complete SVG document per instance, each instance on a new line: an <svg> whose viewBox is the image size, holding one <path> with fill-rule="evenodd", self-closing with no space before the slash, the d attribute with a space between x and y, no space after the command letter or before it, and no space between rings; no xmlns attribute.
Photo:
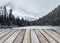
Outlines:
<svg viewBox="0 0 60 43"><path fill-rule="evenodd" d="M19 16L42 17L60 5L60 0L0 0L0 6L7 5Z"/></svg>

